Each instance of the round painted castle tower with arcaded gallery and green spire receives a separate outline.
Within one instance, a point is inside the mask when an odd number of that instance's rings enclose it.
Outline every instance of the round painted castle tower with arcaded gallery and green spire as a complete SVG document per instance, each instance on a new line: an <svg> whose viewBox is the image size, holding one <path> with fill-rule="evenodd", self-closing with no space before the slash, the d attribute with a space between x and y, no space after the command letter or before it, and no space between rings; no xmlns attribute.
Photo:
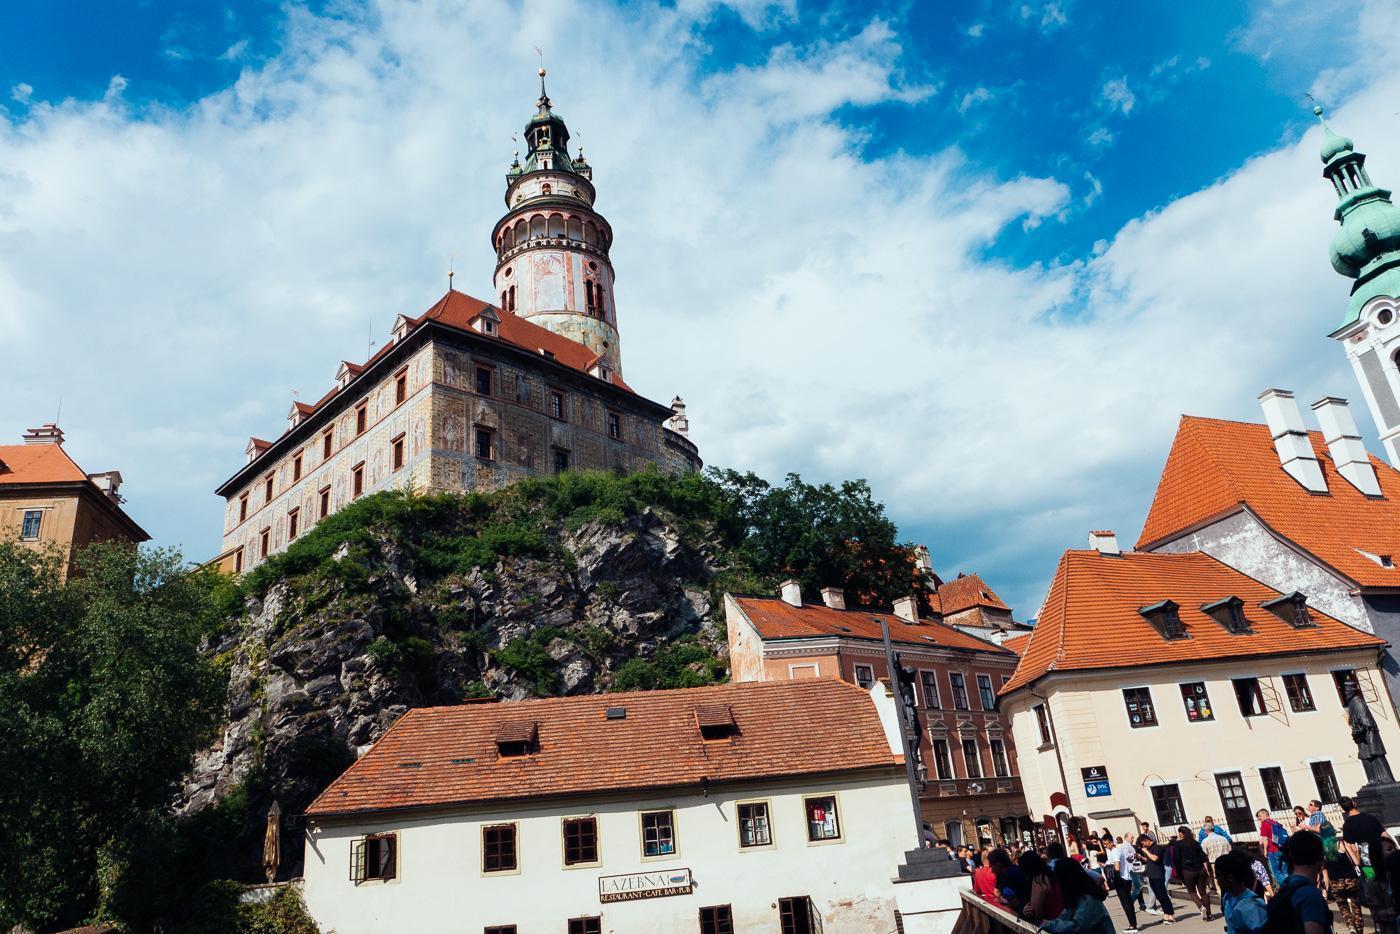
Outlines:
<svg viewBox="0 0 1400 934"><path fill-rule="evenodd" d="M505 174L507 213L496 221L496 295L507 311L571 337L622 372L608 260L612 227L594 210L594 171L568 154L568 127L553 111L539 70L539 109L525 125L529 147Z"/></svg>

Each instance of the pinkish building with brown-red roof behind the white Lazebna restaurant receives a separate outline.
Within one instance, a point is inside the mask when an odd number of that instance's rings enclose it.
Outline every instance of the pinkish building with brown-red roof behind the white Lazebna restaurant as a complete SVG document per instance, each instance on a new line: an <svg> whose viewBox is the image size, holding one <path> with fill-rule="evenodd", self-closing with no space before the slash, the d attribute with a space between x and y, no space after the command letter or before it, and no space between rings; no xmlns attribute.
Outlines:
<svg viewBox="0 0 1400 934"><path fill-rule="evenodd" d="M731 678L840 678L861 688L888 682L883 620L900 667L916 672L924 821L955 843L1019 839L1029 829L1028 812L1009 721L997 703L1016 655L938 618L921 618L913 597L893 613L847 608L846 595L830 587L822 601L805 604L797 581L784 584L780 598L727 594Z"/></svg>

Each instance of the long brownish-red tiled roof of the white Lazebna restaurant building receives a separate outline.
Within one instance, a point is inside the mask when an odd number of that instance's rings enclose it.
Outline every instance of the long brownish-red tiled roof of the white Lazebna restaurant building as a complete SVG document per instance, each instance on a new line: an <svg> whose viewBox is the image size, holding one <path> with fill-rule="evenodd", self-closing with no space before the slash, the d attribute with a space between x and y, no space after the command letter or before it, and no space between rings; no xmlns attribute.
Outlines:
<svg viewBox="0 0 1400 934"><path fill-rule="evenodd" d="M734 714L706 741L697 710ZM609 718L609 707L627 716ZM538 723L538 752L501 756L505 724ZM869 693L836 679L584 695L403 714L308 815L526 800L897 766Z"/></svg>

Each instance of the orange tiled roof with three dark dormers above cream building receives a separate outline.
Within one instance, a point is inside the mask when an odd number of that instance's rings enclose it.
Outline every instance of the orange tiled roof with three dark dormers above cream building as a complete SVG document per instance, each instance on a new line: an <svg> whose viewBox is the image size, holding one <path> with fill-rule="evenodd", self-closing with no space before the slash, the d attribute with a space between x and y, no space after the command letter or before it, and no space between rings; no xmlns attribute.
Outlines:
<svg viewBox="0 0 1400 934"><path fill-rule="evenodd" d="M1023 688L1050 671L1380 648L1386 644L1312 608L1308 612L1317 626L1294 629L1260 608L1260 604L1280 595L1204 552L1130 552L1121 556L1065 552L1016 674L1002 693ZM1225 597L1239 597L1245 602L1245 619L1253 633L1231 634L1201 612L1201 606ZM1166 599L1179 605L1189 639L1168 640L1138 613L1140 608Z"/></svg>

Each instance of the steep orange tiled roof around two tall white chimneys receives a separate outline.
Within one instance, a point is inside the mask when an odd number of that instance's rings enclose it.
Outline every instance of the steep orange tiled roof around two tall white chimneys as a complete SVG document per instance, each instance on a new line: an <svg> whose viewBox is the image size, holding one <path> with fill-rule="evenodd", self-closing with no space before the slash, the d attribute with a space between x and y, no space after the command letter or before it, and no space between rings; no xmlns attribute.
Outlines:
<svg viewBox="0 0 1400 934"><path fill-rule="evenodd" d="M1371 458L1380 499L1369 499L1309 431L1327 493L1305 490L1284 473L1268 426L1183 416L1152 497L1138 549L1176 536L1205 520L1249 508L1277 535L1362 587L1400 587L1400 570L1362 555L1400 560L1400 472Z"/></svg>

